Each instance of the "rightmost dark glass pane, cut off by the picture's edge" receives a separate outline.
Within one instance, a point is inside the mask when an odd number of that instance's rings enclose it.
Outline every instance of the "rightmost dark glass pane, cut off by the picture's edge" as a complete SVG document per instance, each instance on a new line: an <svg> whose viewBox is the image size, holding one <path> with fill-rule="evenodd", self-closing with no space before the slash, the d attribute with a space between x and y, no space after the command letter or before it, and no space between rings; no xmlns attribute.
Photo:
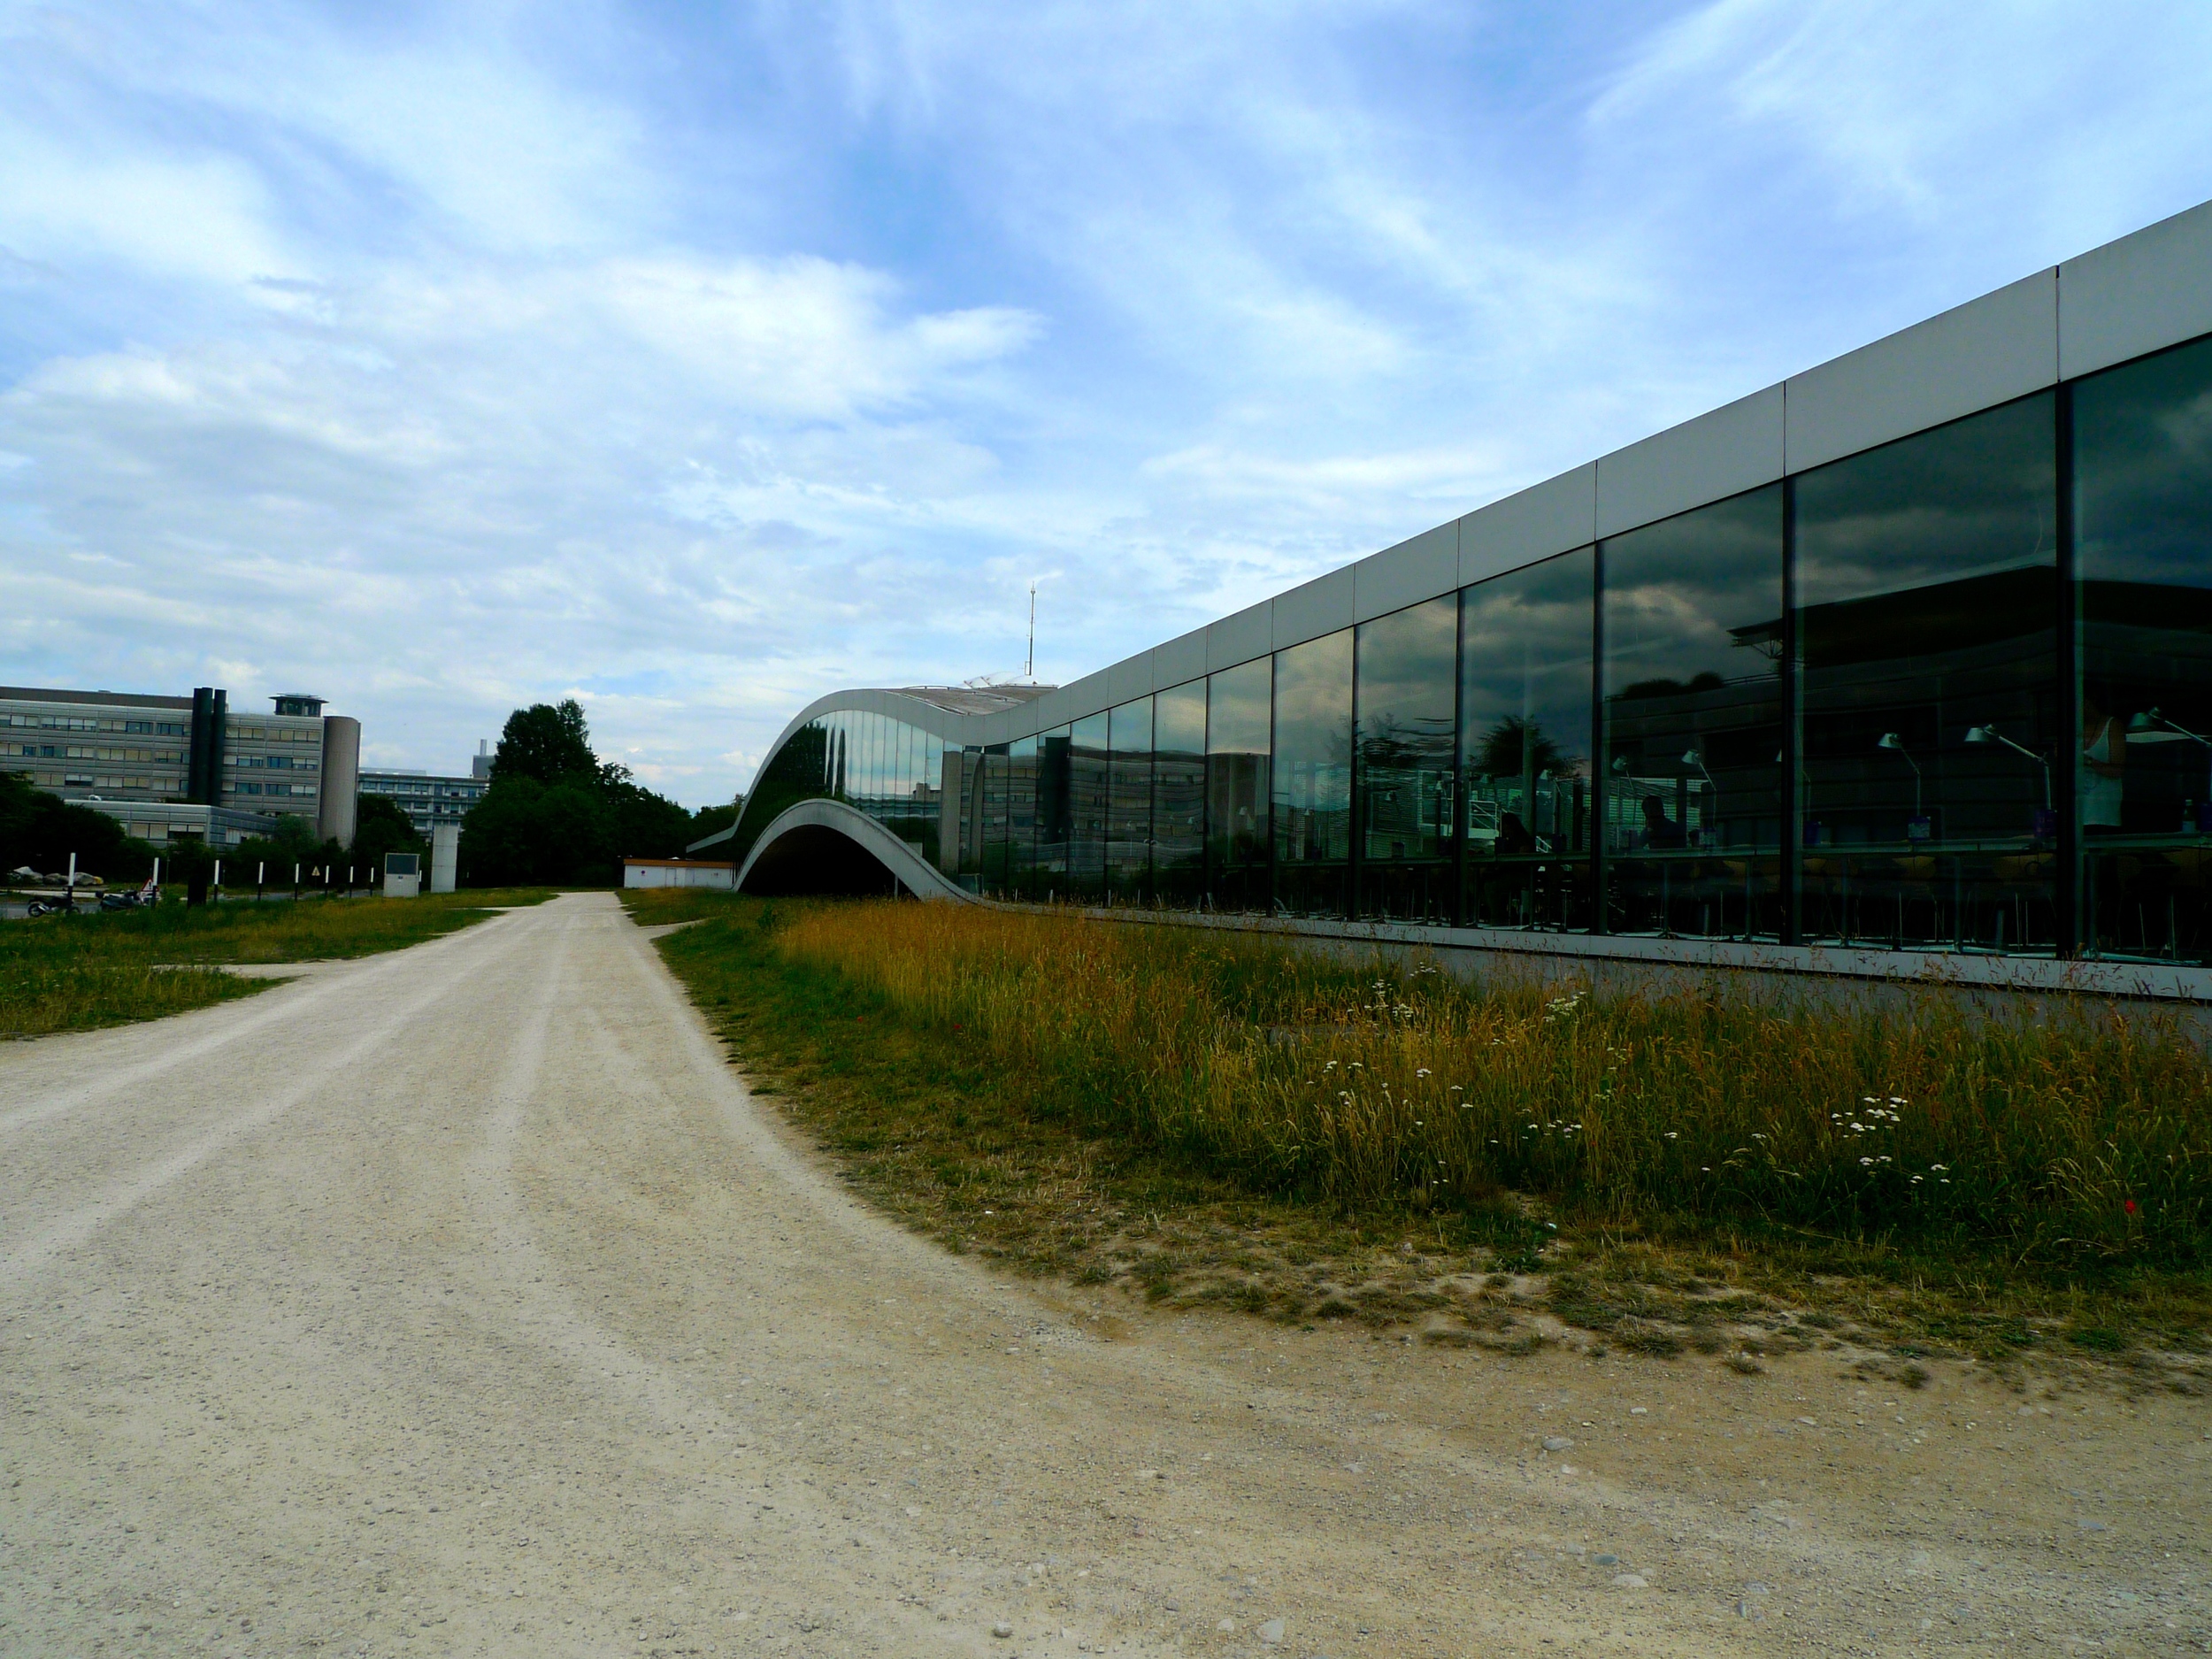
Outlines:
<svg viewBox="0 0 2212 1659"><path fill-rule="evenodd" d="M2081 914L2212 960L2212 341L2075 385Z"/></svg>

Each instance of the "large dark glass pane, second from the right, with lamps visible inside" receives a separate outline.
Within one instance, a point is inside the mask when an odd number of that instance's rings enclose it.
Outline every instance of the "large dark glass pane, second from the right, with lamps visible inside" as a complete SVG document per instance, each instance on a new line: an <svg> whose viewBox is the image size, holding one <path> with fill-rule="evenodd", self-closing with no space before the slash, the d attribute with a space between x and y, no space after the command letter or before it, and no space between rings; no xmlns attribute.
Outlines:
<svg viewBox="0 0 2212 1659"><path fill-rule="evenodd" d="M1796 480L1807 940L2053 949L2053 414Z"/></svg>

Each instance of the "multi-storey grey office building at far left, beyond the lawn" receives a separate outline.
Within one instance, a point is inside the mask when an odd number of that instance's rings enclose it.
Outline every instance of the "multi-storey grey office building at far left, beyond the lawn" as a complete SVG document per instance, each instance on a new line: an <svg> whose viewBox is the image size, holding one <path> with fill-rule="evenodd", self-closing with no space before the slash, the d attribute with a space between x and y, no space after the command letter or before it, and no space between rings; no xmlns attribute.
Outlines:
<svg viewBox="0 0 2212 1659"><path fill-rule="evenodd" d="M276 697L268 714L232 714L212 686L190 697L0 686L0 768L84 805L294 814L345 843L358 754L361 723L323 714L323 699L303 692ZM133 834L168 836L164 814L131 823Z"/></svg>

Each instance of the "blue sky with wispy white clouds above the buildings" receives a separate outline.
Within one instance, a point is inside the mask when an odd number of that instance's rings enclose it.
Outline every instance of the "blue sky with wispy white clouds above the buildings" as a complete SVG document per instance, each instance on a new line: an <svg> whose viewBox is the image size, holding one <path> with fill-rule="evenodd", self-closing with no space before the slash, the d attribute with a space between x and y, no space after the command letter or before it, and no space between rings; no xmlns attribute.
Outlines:
<svg viewBox="0 0 2212 1659"><path fill-rule="evenodd" d="M7 4L0 677L699 805L2212 197L2212 7Z"/></svg>

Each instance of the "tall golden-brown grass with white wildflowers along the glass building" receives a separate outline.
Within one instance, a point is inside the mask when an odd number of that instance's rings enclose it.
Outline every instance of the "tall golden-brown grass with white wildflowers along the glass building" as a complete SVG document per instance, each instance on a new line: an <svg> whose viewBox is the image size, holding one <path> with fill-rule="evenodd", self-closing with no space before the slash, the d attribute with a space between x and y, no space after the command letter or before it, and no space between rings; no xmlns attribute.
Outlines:
<svg viewBox="0 0 2212 1659"><path fill-rule="evenodd" d="M958 1031L1026 1110L1279 1192L1535 1197L2039 1259L2197 1261L2212 1068L2163 1024L1480 991L1175 927L785 914L779 949Z"/></svg>

